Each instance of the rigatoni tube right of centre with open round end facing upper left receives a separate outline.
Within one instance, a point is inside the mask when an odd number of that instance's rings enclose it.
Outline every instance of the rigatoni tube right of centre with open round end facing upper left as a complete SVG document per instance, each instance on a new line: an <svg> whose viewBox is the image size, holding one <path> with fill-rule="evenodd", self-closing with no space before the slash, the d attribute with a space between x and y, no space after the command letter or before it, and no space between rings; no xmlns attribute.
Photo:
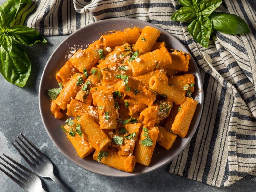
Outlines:
<svg viewBox="0 0 256 192"><path fill-rule="evenodd" d="M181 104L185 99L182 91L174 86L170 86L157 76L150 78L149 87L155 92L164 95L168 100L171 100L176 104Z"/></svg>

